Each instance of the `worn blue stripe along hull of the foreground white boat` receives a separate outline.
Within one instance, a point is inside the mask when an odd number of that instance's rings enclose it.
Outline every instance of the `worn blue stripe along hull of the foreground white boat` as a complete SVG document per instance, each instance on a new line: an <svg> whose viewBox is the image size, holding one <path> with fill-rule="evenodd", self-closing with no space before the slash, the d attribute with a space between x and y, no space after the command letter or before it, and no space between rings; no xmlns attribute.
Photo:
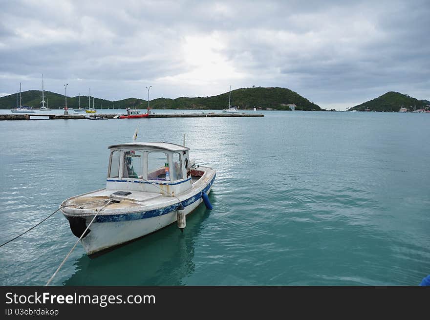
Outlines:
<svg viewBox="0 0 430 320"><path fill-rule="evenodd" d="M187 206L193 204L195 201L198 201L198 199L201 198L202 192L207 192L212 184L215 181L215 176L212 179L212 181L203 189L203 191L198 192L197 194L193 195L192 197L181 201L184 208ZM171 213L172 211L175 211L178 207L178 204L174 204L168 207L164 207L161 209L155 209L150 211L143 211L143 212L136 212L136 213L119 213L119 214L109 214L109 215L98 215L96 217L96 222L118 222L118 221L131 221L131 220L139 220L139 219L148 219L155 216L160 216L163 214Z"/></svg>

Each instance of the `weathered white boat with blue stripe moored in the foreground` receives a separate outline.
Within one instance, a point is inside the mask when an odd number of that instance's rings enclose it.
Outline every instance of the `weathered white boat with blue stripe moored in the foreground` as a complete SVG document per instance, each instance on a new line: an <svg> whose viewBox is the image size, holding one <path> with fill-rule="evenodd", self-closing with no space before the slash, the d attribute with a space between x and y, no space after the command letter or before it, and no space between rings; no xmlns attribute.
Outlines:
<svg viewBox="0 0 430 320"><path fill-rule="evenodd" d="M182 230L186 215L202 201L212 209L208 194L216 172L195 166L189 148L166 142L108 148L106 188L73 196L60 206L72 233L82 236L88 256L176 221Z"/></svg>

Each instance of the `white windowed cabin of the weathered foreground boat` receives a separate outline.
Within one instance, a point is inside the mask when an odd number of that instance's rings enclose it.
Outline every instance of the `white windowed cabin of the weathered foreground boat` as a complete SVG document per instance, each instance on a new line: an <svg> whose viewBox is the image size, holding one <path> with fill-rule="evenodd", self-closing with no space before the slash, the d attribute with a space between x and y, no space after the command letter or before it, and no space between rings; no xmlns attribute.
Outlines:
<svg viewBox="0 0 430 320"><path fill-rule="evenodd" d="M112 145L109 149L107 190L172 195L192 187L186 147L166 142L136 142Z"/></svg>

